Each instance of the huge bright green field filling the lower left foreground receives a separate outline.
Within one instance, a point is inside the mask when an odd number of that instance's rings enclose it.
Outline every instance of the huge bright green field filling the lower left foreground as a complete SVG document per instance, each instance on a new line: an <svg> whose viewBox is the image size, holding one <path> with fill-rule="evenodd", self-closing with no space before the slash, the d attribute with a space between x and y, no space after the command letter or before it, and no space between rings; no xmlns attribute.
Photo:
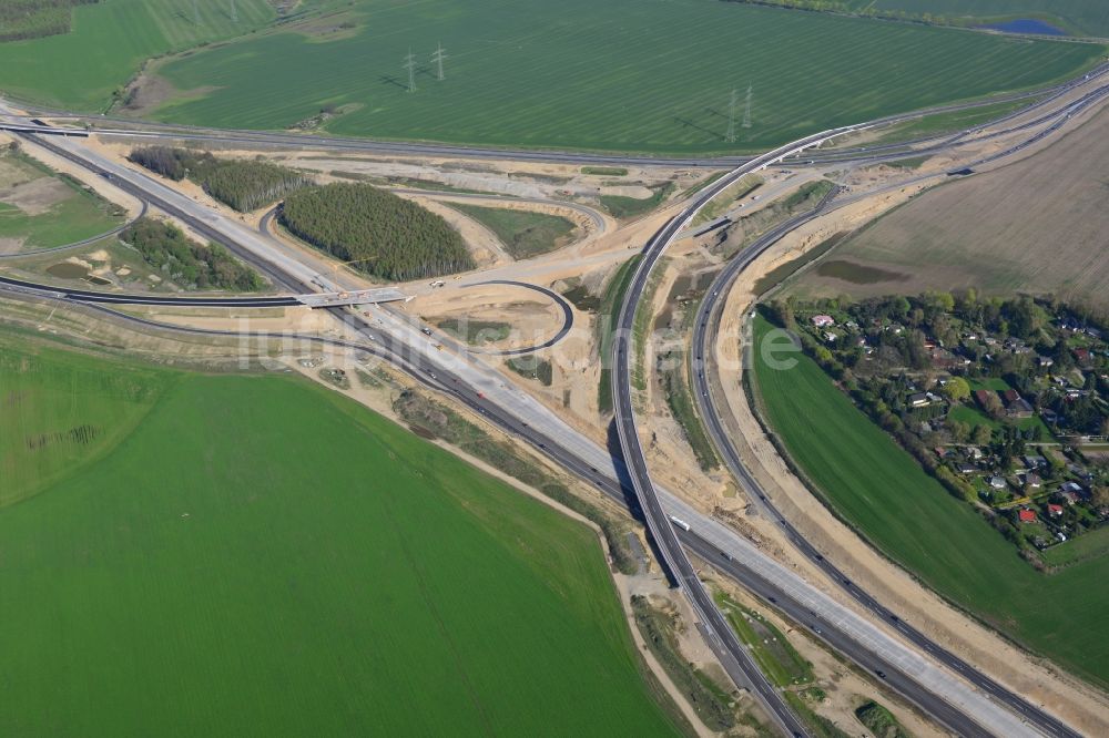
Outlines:
<svg viewBox="0 0 1109 738"><path fill-rule="evenodd" d="M299 379L2 341L3 489L103 433L0 508L0 735L678 732L592 531Z"/></svg>

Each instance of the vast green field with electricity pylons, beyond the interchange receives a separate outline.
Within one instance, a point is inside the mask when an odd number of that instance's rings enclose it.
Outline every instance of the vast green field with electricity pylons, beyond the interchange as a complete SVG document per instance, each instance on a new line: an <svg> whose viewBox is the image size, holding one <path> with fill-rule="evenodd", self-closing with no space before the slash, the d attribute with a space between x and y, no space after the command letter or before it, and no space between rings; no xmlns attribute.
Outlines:
<svg viewBox="0 0 1109 738"><path fill-rule="evenodd" d="M319 21L312 21L306 32L294 24L167 60L160 74L181 93L153 114L283 129L328 109L336 113L324 129L343 135L735 152L1041 85L1103 51L718 0L354 0L343 18L356 28L321 34L313 32ZM430 63L438 42L449 54L441 82ZM415 93L401 68L409 47L419 62ZM845 49L851 63L840 63ZM0 86L6 74L0 71ZM37 84L90 107L103 96L59 90L41 76ZM753 124L725 144L729 95L747 84Z"/></svg>

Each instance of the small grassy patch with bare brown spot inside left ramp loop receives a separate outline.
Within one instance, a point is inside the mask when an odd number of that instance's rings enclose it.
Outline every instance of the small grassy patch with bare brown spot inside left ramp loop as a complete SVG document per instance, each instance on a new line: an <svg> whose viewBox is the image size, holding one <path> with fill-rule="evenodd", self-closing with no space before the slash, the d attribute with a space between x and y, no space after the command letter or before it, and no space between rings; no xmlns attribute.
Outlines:
<svg viewBox="0 0 1109 738"><path fill-rule="evenodd" d="M63 246L123 223L121 208L20 153L0 153L0 253Z"/></svg>

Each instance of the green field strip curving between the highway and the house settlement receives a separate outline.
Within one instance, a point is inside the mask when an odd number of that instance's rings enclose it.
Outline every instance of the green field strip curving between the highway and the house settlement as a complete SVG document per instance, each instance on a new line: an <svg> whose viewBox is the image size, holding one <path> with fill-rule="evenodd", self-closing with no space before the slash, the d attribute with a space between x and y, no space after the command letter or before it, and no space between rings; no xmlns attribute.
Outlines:
<svg viewBox="0 0 1109 738"><path fill-rule="evenodd" d="M756 346L770 328L756 319ZM1109 684L1103 558L1040 574L814 361L795 353L793 369L775 370L754 353L770 424L838 515L936 592L1079 675Z"/></svg>

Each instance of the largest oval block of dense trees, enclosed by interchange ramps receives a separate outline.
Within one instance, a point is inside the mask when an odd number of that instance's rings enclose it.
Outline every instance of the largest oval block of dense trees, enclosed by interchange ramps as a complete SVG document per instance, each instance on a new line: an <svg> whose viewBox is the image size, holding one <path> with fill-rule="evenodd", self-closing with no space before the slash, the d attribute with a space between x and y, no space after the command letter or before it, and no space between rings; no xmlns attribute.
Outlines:
<svg viewBox="0 0 1109 738"><path fill-rule="evenodd" d="M470 269L466 244L447 222L368 184L336 183L293 193L282 224L355 268L404 281Z"/></svg>

